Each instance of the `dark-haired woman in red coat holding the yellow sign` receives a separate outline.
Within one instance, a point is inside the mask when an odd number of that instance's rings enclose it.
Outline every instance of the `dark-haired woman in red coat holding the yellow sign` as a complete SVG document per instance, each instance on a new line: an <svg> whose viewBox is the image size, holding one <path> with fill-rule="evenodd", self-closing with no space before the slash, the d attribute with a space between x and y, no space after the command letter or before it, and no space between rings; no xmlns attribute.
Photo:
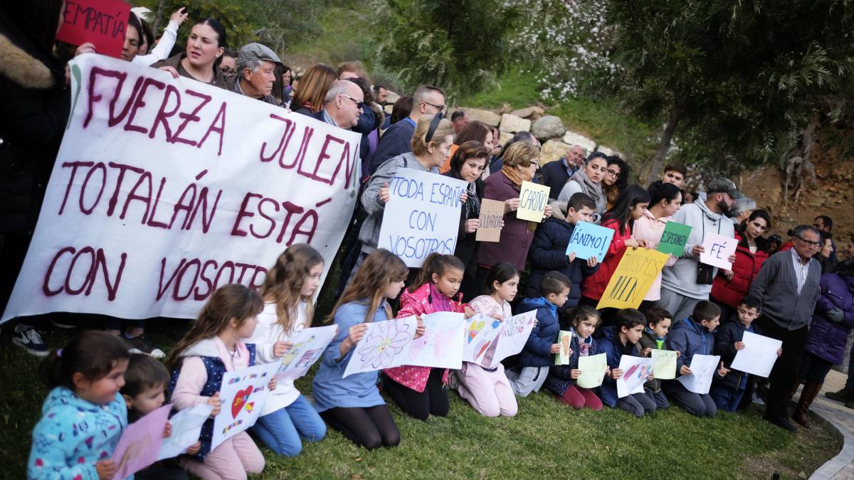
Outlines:
<svg viewBox="0 0 854 480"><path fill-rule="evenodd" d="M605 216L602 217L602 226L613 230L614 238L608 246L605 260L602 260L599 270L590 277L584 278L582 282L582 300L580 301L582 305L595 308L599 304L600 298L605 294L605 287L611 281L611 276L617 270L620 260L623 260L626 249L646 247L646 241L632 236L632 229L635 227L635 221L643 216L649 202L650 196L646 189L640 185L629 185L617 196L614 206L605 212ZM600 313L603 325L614 325L616 308L603 308Z"/></svg>

